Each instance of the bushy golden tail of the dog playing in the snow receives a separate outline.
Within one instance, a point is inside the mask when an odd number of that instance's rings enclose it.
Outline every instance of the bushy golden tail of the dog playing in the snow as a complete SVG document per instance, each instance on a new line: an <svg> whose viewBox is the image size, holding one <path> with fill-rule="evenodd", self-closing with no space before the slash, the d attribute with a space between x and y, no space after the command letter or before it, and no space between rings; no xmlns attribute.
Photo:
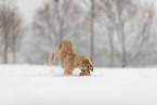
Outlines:
<svg viewBox="0 0 157 105"><path fill-rule="evenodd" d="M54 56L56 56L56 57L58 56L61 48L62 48L62 42L55 47L51 57L49 58L49 65L52 65Z"/></svg>

